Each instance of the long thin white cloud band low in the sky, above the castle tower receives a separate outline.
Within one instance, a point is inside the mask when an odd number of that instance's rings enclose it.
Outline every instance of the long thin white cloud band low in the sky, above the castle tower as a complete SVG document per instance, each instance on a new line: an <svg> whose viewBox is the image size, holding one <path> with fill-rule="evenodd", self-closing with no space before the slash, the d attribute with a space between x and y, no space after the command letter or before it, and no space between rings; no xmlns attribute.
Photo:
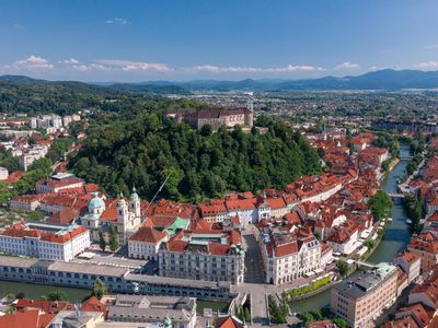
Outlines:
<svg viewBox="0 0 438 328"><path fill-rule="evenodd" d="M280 68L201 65L201 66L195 66L188 70L195 72L210 72L210 73L281 73L281 72L298 72L298 71L324 71L325 69L314 66L293 66L293 65L288 65L286 67L280 67Z"/></svg>

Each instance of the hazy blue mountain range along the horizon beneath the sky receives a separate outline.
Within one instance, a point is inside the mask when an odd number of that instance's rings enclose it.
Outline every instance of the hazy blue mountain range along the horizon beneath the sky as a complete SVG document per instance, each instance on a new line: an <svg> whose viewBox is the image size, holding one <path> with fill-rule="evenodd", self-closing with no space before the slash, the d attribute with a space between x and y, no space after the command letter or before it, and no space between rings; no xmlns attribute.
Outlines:
<svg viewBox="0 0 438 328"><path fill-rule="evenodd" d="M24 75L2 75L1 83L14 84L49 84L59 83L37 80ZM403 90L403 89L438 89L438 71L419 70L379 70L358 77L325 77L306 80L253 80L220 81L193 80L146 81L138 83L88 83L117 91L153 94L189 94L193 91L336 91L336 90Z"/></svg>

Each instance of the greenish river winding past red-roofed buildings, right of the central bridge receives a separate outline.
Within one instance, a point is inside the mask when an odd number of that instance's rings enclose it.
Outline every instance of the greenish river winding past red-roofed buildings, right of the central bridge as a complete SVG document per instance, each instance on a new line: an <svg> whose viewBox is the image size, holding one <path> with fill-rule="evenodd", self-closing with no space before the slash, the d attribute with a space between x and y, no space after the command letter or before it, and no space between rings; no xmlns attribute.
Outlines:
<svg viewBox="0 0 438 328"><path fill-rule="evenodd" d="M381 187L387 192L397 192L396 180L405 174L406 165L411 162L410 149L406 145L400 148L400 162L383 179ZM394 199L391 210L392 222L387 227L385 234L379 246L367 259L372 263L391 262L394 256L404 249L410 241L411 233L406 225L407 215L404 211L403 200ZM290 309L302 313L330 305L331 290L326 290L315 296L292 302Z"/></svg>

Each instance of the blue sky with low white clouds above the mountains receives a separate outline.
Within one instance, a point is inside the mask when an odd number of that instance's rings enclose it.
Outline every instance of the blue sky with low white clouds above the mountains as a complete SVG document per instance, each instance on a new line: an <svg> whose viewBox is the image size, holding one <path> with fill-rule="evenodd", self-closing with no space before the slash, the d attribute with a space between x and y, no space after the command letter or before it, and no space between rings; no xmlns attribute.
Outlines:
<svg viewBox="0 0 438 328"><path fill-rule="evenodd" d="M0 74L301 79L438 70L437 0L1 0Z"/></svg>

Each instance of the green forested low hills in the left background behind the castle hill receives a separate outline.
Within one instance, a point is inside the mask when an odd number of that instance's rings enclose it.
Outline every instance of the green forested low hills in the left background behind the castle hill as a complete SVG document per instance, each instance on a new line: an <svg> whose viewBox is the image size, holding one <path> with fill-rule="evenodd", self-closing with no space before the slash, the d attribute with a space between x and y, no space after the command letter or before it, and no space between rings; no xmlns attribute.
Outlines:
<svg viewBox="0 0 438 328"><path fill-rule="evenodd" d="M162 108L163 104L188 107L189 101L172 101L155 95L161 86L136 89L136 92L81 82L48 82L0 79L0 113L66 115L83 109L136 114ZM169 86L163 86L169 90ZM148 92L149 91L149 92Z"/></svg>

